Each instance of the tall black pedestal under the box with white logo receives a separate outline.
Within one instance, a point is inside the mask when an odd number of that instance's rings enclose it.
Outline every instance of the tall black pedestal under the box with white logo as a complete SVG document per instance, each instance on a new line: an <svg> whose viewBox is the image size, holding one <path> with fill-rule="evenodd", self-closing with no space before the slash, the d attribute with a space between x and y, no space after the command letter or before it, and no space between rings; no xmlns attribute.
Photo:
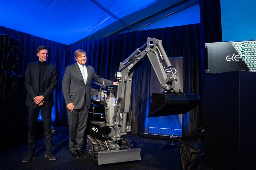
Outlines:
<svg viewBox="0 0 256 170"><path fill-rule="evenodd" d="M206 76L205 164L214 170L255 169L256 73Z"/></svg>

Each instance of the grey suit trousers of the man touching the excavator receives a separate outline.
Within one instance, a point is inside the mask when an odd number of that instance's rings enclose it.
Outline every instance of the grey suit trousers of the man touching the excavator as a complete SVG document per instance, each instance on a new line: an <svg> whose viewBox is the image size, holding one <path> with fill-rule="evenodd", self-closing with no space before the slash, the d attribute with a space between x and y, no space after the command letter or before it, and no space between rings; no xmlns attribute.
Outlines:
<svg viewBox="0 0 256 170"><path fill-rule="evenodd" d="M69 128L69 149L70 151L80 150L84 143L84 132L88 119L88 106L85 101L81 109L74 109L68 113L68 128Z"/></svg>

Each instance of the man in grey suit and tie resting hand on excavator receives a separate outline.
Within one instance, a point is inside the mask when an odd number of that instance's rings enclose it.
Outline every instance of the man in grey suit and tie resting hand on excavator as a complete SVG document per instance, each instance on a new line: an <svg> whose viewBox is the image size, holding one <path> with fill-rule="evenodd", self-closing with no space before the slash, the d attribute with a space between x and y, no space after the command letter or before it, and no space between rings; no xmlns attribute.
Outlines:
<svg viewBox="0 0 256 170"><path fill-rule="evenodd" d="M85 157L84 131L87 124L88 109L91 102L92 80L106 85L117 85L113 82L98 76L93 67L85 64L86 53L84 50L76 50L74 53L75 64L66 67L62 81L69 124L69 149L75 158Z"/></svg>

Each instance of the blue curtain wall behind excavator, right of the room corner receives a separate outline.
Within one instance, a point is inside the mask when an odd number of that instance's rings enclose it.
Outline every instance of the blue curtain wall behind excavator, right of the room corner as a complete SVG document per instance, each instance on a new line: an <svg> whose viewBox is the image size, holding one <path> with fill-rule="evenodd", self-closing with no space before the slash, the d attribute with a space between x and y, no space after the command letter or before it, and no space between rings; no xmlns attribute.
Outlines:
<svg viewBox="0 0 256 170"><path fill-rule="evenodd" d="M184 93L200 95L200 25L186 25L162 29L134 31L126 34L110 36L68 47L68 60L74 62L76 49L86 51L88 64L96 73L110 80L115 80L115 71L119 63L124 61L133 51L141 47L148 37L163 41L168 57L184 57ZM179 75L182 76L182 75ZM148 131L148 111L150 107L150 62L145 62L133 74L131 110L132 134ZM199 107L193 109L183 118L183 135L195 132L200 126Z"/></svg>

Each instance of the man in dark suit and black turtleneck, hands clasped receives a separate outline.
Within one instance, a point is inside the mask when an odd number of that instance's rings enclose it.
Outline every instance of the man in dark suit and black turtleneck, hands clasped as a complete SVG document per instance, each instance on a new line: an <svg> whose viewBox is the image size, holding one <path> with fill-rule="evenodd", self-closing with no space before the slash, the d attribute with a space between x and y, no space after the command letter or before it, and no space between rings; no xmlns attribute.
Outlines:
<svg viewBox="0 0 256 170"><path fill-rule="evenodd" d="M49 160L56 160L51 152L51 107L54 105L53 91L56 86L57 71L53 64L47 63L47 47L37 48L38 62L29 63L25 71L25 88L28 106L28 155L22 162L29 162L35 158L36 123L39 109L43 118L46 153Z"/></svg>

